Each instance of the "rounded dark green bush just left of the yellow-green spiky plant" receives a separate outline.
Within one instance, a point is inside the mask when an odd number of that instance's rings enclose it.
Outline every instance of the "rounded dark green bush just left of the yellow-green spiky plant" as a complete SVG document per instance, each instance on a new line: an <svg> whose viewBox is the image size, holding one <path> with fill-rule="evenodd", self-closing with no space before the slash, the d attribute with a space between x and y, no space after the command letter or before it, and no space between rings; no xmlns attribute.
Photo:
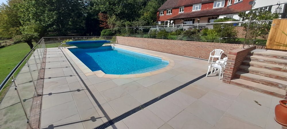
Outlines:
<svg viewBox="0 0 287 129"><path fill-rule="evenodd" d="M200 40L198 29L191 29L184 31L183 33L181 33L181 35L177 37L177 40L183 40L184 38L186 40L193 40L193 41Z"/></svg>

